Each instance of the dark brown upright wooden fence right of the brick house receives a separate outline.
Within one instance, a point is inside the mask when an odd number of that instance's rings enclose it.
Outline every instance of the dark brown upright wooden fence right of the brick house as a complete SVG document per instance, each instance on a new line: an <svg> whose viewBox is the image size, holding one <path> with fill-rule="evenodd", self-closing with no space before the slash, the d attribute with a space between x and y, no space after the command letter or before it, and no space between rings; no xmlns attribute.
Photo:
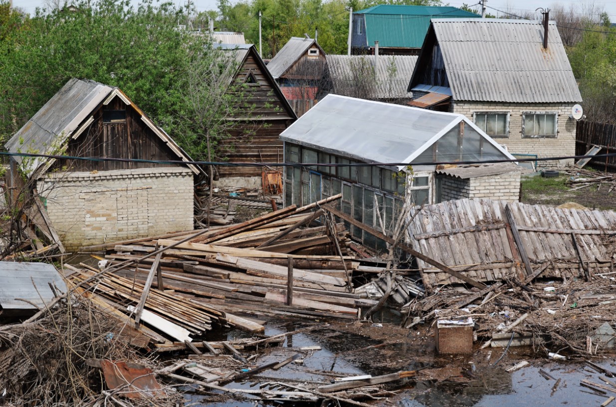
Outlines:
<svg viewBox="0 0 616 407"><path fill-rule="evenodd" d="M599 154L616 152L616 125L579 121L575 132L575 154L582 156L586 154L592 146L601 146ZM603 157L591 160L593 165L604 165L616 168L616 157Z"/></svg>

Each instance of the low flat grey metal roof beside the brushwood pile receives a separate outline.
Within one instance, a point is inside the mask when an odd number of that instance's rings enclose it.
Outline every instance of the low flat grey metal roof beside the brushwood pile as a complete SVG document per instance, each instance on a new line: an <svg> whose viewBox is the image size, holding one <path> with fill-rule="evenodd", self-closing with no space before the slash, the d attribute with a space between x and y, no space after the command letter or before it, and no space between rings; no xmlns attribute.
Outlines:
<svg viewBox="0 0 616 407"><path fill-rule="evenodd" d="M52 264L17 263L0 261L0 306L2 309L33 309L44 307L54 294L49 283L55 284L60 291L66 292L67 286L62 276ZM38 292L37 292L38 290ZM40 295L39 295L40 293ZM25 299L19 301L17 298Z"/></svg>

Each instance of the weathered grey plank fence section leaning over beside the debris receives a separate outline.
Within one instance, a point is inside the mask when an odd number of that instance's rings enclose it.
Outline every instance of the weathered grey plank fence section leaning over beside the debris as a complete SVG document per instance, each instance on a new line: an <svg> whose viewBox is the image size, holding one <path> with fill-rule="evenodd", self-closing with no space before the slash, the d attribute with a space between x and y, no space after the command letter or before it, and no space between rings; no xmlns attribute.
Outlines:
<svg viewBox="0 0 616 407"><path fill-rule="evenodd" d="M533 271L545 267L542 277L579 278L580 270L586 266L591 274L612 271L616 243L609 234L616 232L614 211L561 209L489 199L452 200L416 209L418 213L408 228L413 248L475 280L524 277L519 247L513 237L508 237L507 206ZM460 282L423 261L418 263L424 283L429 286Z"/></svg>

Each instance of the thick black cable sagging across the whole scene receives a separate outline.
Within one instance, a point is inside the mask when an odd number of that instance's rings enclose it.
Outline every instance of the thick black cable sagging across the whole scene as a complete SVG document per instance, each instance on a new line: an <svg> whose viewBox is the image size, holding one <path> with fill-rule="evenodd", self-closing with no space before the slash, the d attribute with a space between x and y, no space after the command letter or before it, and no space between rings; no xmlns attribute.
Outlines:
<svg viewBox="0 0 616 407"><path fill-rule="evenodd" d="M182 160L141 160L141 159L124 159L111 157L74 157L62 156L55 154L34 154L28 152L0 152L0 156L10 157L42 157L49 159L65 159L65 160L82 160L94 162L138 162L147 164L192 164L192 165L214 165L219 167L407 167L408 165L446 165L446 164L498 164L501 162L535 162L535 161L556 161L567 159L585 159L585 158L606 158L616 157L616 152L608 154L596 154L594 156L559 156L559 157L537 157L537 158L521 158L521 159L495 159L495 160L467 160L467 161L439 161L439 162L357 162L353 164L325 164L325 163L297 163L297 162L210 162L210 161L182 161Z"/></svg>

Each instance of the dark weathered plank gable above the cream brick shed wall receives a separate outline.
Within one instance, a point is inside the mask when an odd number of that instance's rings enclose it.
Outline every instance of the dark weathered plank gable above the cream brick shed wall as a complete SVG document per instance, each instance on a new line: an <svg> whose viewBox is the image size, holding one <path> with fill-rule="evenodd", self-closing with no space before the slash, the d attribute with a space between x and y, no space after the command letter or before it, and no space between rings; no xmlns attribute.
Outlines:
<svg viewBox="0 0 616 407"><path fill-rule="evenodd" d="M105 111L126 111L126 121L105 123ZM94 121L77 138L68 143L67 156L106 157L141 160L179 160L177 155L141 120L141 114L119 97L100 106L92 115ZM132 168L177 167L179 164L153 164L126 161L57 160L52 170L111 171Z"/></svg>

